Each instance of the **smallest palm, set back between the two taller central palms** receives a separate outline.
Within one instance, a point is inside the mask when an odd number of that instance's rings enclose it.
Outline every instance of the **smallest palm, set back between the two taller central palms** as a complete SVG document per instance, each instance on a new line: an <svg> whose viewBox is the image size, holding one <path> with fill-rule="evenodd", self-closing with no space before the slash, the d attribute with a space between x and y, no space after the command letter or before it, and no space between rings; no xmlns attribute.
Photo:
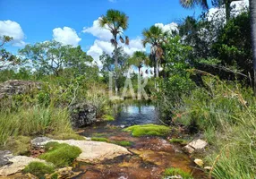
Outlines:
<svg viewBox="0 0 256 179"><path fill-rule="evenodd" d="M145 52L136 51L130 58L130 64L135 65L138 67L138 74L141 74L141 68L143 67L143 64L148 64L149 58L148 55Z"/></svg>

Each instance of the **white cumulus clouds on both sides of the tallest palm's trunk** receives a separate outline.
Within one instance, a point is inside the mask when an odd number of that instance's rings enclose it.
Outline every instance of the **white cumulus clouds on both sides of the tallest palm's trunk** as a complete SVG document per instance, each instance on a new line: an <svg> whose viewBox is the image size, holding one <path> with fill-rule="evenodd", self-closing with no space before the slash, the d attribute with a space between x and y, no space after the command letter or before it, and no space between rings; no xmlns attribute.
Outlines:
<svg viewBox="0 0 256 179"><path fill-rule="evenodd" d="M100 18L98 18L99 20ZM90 47L87 54L91 55L94 61L101 68L102 64L99 61L99 56L102 55L103 52L106 52L108 55L112 55L114 51L114 47L110 43L110 39L112 38L112 34L109 30L102 29L99 27L98 20L93 21L91 27L83 28L82 32L90 33L97 39L94 41L94 44ZM146 49L141 44L141 38L133 38L130 39L129 46L124 44L119 44L124 47L124 52L128 55L132 55L135 51L146 51Z"/></svg>

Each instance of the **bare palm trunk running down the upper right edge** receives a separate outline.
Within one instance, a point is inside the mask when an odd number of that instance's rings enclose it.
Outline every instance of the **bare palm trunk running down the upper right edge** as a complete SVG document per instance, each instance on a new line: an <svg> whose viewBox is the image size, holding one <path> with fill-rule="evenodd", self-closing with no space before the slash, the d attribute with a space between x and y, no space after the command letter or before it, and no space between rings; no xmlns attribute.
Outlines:
<svg viewBox="0 0 256 179"><path fill-rule="evenodd" d="M254 95L256 95L256 1L250 0L250 18L252 30L252 61L254 73Z"/></svg>

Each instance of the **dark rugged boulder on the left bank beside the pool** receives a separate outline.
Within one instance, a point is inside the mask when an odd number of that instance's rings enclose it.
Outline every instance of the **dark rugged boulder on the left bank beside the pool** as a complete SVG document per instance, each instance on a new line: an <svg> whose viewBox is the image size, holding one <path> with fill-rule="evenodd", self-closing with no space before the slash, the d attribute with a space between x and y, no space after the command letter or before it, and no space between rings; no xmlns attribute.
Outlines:
<svg viewBox="0 0 256 179"><path fill-rule="evenodd" d="M70 107L71 123L74 128L84 127L97 121L97 108L90 103L79 103Z"/></svg>

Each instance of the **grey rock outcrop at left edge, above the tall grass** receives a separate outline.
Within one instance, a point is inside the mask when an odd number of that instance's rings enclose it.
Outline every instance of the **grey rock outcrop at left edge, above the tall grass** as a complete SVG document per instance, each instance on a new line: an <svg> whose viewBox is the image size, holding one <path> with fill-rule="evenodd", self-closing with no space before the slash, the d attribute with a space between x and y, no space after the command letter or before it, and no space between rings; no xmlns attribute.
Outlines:
<svg viewBox="0 0 256 179"><path fill-rule="evenodd" d="M41 83L36 81L5 81L0 84L0 98L4 98L4 96L28 93L34 89L40 90L40 85Z"/></svg>

